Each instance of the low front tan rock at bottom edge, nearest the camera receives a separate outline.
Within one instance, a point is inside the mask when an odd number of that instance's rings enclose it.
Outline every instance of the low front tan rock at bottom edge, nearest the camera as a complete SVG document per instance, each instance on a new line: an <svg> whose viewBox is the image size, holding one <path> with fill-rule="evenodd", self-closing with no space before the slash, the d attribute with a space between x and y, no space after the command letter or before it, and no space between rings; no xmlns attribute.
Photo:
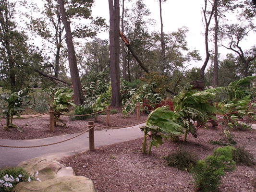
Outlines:
<svg viewBox="0 0 256 192"><path fill-rule="evenodd" d="M57 177L42 182L20 182L16 192L96 192L92 180L82 176Z"/></svg>

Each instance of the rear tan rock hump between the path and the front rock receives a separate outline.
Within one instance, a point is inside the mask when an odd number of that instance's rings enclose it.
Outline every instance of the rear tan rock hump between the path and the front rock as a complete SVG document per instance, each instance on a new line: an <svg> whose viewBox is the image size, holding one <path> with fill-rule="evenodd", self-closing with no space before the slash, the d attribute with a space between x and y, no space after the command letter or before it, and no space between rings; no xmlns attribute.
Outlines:
<svg viewBox="0 0 256 192"><path fill-rule="evenodd" d="M38 177L41 181L50 180L55 177L75 175L73 168L65 167L56 160L44 157L36 157L28 161L23 161L18 164L18 167L24 168L29 174L38 171Z"/></svg>

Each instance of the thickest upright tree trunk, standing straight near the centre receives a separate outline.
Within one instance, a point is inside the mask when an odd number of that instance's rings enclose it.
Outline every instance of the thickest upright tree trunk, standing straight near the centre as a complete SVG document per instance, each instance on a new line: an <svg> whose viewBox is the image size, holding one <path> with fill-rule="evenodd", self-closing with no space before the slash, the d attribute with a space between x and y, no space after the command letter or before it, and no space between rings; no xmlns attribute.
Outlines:
<svg viewBox="0 0 256 192"><path fill-rule="evenodd" d="M114 4L113 4L114 1ZM109 0L110 9L110 79L112 88L111 106L121 106L120 95L120 68L119 68L119 54L120 54L120 40L119 40L119 26L120 26L120 9L119 0Z"/></svg>

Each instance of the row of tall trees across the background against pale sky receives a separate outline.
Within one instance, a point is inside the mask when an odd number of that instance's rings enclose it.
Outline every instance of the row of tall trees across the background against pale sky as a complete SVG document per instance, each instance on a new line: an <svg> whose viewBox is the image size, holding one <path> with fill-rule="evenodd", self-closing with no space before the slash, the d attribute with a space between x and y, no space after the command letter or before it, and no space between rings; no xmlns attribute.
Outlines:
<svg viewBox="0 0 256 192"><path fill-rule="evenodd" d="M65 64L68 60L76 104L83 103L79 74L86 78L91 72L110 71L111 104L119 106L120 77L133 81L144 77L143 72L158 72L151 75L155 79L156 75L158 79L161 75L166 76L169 80L169 87L166 86L166 89L171 93L179 91L185 82L194 79L207 80L207 85L212 85L213 82L214 86L218 86L218 71L221 73L222 69L227 69L227 65L224 68L219 66L219 46L237 54L228 55L226 60L230 60L227 63L234 63L238 78L252 74L255 66L255 47L244 50L240 46L241 41L254 30L255 6L250 0L243 1L244 4L235 0L205 0L202 9L206 26L206 60L202 65L201 75L199 69L186 68L192 60L202 60L198 50L188 49L188 29L183 27L175 32L164 33L162 6L165 1L167 0L159 0L160 32L150 32L148 28L154 21L150 18L150 12L143 0L122 0L121 14L119 0L109 0L109 44L107 40L99 38L83 43L83 39L96 36L107 26L104 19L92 17L93 0L43 0L43 7L33 4L32 1L14 3L0 0L1 84L14 92L31 82L37 82L38 73L57 84L67 84L70 81L67 74L69 70ZM130 6L131 3L133 6ZM24 10L28 4L30 6L26 11L15 12L20 6L23 6ZM239 9L243 21L230 24L226 22L225 14L235 8ZM37 14L30 14L32 11ZM18 18L24 20L26 27L21 28L16 23ZM215 27L210 25L213 19ZM208 48L210 33L214 34L213 52ZM120 34L125 35L122 35L121 42ZM37 44L40 39L42 46L32 44L32 36L37 39ZM205 73L209 61L214 61L214 67L210 67ZM27 80L26 84L24 80Z"/></svg>

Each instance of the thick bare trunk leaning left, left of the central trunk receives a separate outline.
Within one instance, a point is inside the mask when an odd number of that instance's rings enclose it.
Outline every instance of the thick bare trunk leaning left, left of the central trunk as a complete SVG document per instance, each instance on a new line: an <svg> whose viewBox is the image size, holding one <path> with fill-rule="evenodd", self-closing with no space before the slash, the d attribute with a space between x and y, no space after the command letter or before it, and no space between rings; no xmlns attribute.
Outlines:
<svg viewBox="0 0 256 192"><path fill-rule="evenodd" d="M65 41L68 48L68 59L69 59L69 68L70 68L70 74L71 74L71 80L72 80L73 92L74 92L74 103L76 105L82 105L84 103L84 97L83 97L82 86L81 86L80 77L77 69L70 23L67 19L66 11L64 8L64 0L59 0L59 4L60 4L62 22L66 32Z"/></svg>

